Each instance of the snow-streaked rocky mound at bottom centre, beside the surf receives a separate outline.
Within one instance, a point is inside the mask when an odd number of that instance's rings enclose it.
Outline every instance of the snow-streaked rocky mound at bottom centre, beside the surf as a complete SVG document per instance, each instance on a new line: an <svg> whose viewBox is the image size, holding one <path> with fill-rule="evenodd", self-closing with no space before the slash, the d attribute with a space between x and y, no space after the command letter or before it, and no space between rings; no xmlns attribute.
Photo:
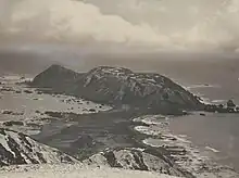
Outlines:
<svg viewBox="0 0 239 178"><path fill-rule="evenodd" d="M181 171L165 157L155 156L140 149L106 150L84 161L88 165L109 166L124 169L158 171L161 174L184 177L188 173Z"/></svg>

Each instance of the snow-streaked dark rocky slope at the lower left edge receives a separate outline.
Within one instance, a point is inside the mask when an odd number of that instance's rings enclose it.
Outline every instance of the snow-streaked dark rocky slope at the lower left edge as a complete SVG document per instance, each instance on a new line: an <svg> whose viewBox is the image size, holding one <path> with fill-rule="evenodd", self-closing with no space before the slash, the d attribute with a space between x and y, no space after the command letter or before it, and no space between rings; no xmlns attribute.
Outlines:
<svg viewBox="0 0 239 178"><path fill-rule="evenodd" d="M0 166L46 163L78 163L78 161L24 134L0 128Z"/></svg>

